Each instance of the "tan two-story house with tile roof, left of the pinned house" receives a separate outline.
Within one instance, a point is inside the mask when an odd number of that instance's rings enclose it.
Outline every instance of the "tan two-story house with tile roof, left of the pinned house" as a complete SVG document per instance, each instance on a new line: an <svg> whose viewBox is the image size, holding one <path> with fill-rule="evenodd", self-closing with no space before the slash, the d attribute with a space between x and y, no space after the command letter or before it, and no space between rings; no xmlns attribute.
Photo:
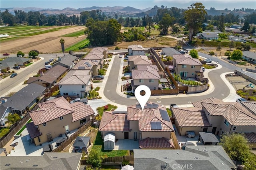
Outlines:
<svg viewBox="0 0 256 170"><path fill-rule="evenodd" d="M38 109L29 114L32 123L28 123L26 127L31 139L38 146L81 127L92 119L94 111L82 102L70 104L64 97L60 97L38 103Z"/></svg>

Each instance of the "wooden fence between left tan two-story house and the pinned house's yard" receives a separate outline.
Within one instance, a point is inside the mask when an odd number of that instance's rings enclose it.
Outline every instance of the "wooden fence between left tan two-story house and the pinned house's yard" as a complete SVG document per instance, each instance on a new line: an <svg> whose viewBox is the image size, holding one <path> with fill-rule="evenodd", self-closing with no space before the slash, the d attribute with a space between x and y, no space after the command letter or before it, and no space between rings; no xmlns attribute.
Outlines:
<svg viewBox="0 0 256 170"><path fill-rule="evenodd" d="M64 150L64 148L66 148L69 144L72 143L73 140L76 139L76 137L83 133L87 128L89 128L91 125L93 124L93 121L90 120L88 121L85 125L83 125L82 127L80 127L74 134L72 134L71 136L69 136L69 138L67 140L65 140L64 142L62 142L62 144L60 144L60 146L58 146L57 148L55 148L54 150L52 150L52 152L61 152L62 150Z"/></svg>

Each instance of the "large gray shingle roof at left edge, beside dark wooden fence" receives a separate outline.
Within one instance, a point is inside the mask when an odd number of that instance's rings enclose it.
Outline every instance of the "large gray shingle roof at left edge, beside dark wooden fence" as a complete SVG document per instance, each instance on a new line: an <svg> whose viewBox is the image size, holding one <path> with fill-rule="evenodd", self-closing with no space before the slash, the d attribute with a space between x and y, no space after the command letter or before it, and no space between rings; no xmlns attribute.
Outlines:
<svg viewBox="0 0 256 170"><path fill-rule="evenodd" d="M7 102L1 105L4 107L12 107L19 111L25 109L34 99L36 99L41 93L45 91L46 87L41 85L31 83L26 87L22 88L10 98L8 98ZM2 117L2 110L1 110L1 117Z"/></svg>

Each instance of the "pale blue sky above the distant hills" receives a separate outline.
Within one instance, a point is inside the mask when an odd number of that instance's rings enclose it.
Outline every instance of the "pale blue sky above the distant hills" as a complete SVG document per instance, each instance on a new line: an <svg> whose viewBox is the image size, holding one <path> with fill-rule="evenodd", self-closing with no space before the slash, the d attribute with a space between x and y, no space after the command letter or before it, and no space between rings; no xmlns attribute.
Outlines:
<svg viewBox="0 0 256 170"><path fill-rule="evenodd" d="M170 8L175 6L177 8L187 8L190 4L195 2L202 2L206 9L214 7L216 10L224 10L228 8L256 8L255 0L0 0L1 8L11 7L37 7L37 8L54 8L63 9L70 8L86 8L92 6L131 6L138 9L145 9L158 5L167 6Z"/></svg>

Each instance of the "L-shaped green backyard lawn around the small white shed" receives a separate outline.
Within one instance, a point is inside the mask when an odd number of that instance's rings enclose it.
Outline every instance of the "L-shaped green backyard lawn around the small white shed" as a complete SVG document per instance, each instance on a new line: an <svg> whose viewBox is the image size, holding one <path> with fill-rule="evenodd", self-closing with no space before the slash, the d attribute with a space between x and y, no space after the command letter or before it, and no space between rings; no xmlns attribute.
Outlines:
<svg viewBox="0 0 256 170"><path fill-rule="evenodd" d="M129 150L104 150L104 142L101 138L101 132L98 131L96 140L92 146L92 149L98 150L102 156L114 157L129 155Z"/></svg>

